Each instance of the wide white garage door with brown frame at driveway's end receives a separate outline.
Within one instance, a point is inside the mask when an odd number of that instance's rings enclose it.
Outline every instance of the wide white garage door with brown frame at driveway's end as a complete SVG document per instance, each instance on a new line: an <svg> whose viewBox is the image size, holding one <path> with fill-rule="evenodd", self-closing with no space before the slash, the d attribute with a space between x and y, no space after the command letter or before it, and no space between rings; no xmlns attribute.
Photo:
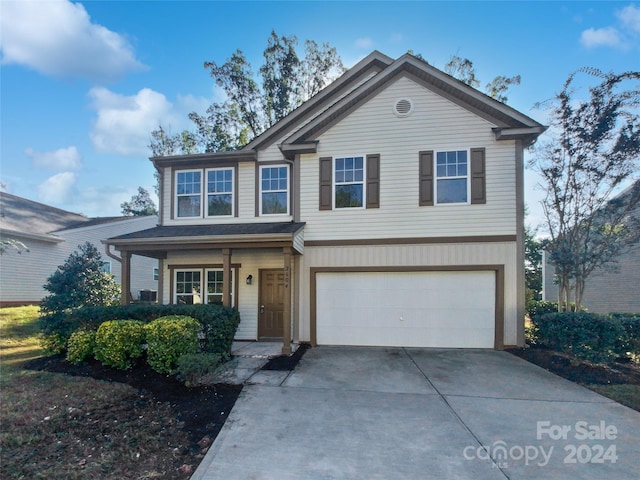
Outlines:
<svg viewBox="0 0 640 480"><path fill-rule="evenodd" d="M495 273L318 272L319 345L493 348Z"/></svg>

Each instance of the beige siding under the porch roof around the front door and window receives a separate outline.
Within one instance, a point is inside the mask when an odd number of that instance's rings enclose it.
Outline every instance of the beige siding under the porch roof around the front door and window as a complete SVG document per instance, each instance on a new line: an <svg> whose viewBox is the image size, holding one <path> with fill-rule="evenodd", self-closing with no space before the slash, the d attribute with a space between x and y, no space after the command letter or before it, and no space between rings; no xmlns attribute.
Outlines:
<svg viewBox="0 0 640 480"><path fill-rule="evenodd" d="M170 266L189 265L199 268L199 265L222 265L222 252L210 250L207 252L170 252L164 261L164 302L173 303L173 295L170 291L173 284ZM240 325L236 332L237 340L257 340L258 335L258 294L260 292L260 269L284 268L282 250L233 250L231 264L240 264L237 270L238 291L236 292L236 308L240 313ZM247 276L253 276L251 285L247 285ZM292 282L295 281L292 279Z"/></svg>

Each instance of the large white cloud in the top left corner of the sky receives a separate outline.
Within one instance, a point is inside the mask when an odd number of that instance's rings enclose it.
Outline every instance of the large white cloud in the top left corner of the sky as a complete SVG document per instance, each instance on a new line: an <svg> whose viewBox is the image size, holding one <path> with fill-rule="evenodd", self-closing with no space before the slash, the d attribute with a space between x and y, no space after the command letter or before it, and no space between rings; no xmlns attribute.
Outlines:
<svg viewBox="0 0 640 480"><path fill-rule="evenodd" d="M3 64L19 64L55 77L114 80L144 69L122 35L91 22L67 0L3 1Z"/></svg>

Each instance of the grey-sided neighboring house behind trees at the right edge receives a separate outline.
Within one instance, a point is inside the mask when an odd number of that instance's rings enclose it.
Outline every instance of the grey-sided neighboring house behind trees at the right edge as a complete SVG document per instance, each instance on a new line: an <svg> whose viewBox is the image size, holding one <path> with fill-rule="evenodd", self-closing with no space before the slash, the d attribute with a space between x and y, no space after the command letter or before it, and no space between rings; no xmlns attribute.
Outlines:
<svg viewBox="0 0 640 480"><path fill-rule="evenodd" d="M640 206L636 206L631 215L640 220ZM559 292L554 267L548 262L546 252L543 253L542 299L557 302ZM640 313L638 291L640 243L633 245L617 258L616 268L599 268L593 271L585 284L582 306L593 313Z"/></svg>

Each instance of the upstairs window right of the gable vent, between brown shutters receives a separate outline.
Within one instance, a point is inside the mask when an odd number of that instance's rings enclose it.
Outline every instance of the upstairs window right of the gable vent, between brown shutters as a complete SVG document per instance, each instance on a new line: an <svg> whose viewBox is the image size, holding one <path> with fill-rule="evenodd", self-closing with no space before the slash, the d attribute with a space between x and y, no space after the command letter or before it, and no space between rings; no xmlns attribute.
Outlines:
<svg viewBox="0 0 640 480"><path fill-rule="evenodd" d="M468 153L436 153L436 203L468 203Z"/></svg>

